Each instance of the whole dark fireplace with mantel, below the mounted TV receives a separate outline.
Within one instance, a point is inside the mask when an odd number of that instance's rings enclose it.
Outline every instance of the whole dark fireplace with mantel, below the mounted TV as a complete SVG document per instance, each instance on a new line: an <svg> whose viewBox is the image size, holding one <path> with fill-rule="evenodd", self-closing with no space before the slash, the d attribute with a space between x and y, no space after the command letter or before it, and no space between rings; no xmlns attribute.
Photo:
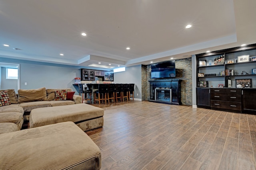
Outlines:
<svg viewBox="0 0 256 170"><path fill-rule="evenodd" d="M181 105L182 80L151 80L150 102Z"/></svg>

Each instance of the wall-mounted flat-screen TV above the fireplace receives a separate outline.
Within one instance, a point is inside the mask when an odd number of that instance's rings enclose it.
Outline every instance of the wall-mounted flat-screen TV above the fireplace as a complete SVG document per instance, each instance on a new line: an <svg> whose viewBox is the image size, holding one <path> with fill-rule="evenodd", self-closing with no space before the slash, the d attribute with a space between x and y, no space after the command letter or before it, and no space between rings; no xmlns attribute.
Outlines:
<svg viewBox="0 0 256 170"><path fill-rule="evenodd" d="M175 60L151 65L151 78L176 77Z"/></svg>

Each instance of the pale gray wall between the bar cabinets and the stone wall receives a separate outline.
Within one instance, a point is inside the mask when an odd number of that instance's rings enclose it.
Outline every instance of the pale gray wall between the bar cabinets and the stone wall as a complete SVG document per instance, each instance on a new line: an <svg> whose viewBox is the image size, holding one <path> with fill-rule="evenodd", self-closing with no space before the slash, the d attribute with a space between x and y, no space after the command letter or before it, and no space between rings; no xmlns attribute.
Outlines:
<svg viewBox="0 0 256 170"><path fill-rule="evenodd" d="M141 99L141 65L126 67L123 72L115 72L113 83L134 83L134 98Z"/></svg>

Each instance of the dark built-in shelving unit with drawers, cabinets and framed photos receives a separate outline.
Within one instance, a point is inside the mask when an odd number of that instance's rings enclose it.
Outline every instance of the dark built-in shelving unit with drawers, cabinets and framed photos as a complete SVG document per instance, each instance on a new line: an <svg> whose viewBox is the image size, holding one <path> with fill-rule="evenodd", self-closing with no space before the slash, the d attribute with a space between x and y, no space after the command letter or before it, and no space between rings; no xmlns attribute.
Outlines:
<svg viewBox="0 0 256 170"><path fill-rule="evenodd" d="M196 61L198 107L256 114L256 44L198 54Z"/></svg>

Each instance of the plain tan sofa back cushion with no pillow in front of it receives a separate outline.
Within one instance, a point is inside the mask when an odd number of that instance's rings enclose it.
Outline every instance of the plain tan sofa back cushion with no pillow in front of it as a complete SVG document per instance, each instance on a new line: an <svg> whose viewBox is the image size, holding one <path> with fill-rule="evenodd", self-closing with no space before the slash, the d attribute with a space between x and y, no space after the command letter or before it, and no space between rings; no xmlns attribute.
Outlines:
<svg viewBox="0 0 256 170"><path fill-rule="evenodd" d="M35 101L47 101L46 88L29 89L29 90L18 90L18 102L19 104L24 102L35 102Z"/></svg>

